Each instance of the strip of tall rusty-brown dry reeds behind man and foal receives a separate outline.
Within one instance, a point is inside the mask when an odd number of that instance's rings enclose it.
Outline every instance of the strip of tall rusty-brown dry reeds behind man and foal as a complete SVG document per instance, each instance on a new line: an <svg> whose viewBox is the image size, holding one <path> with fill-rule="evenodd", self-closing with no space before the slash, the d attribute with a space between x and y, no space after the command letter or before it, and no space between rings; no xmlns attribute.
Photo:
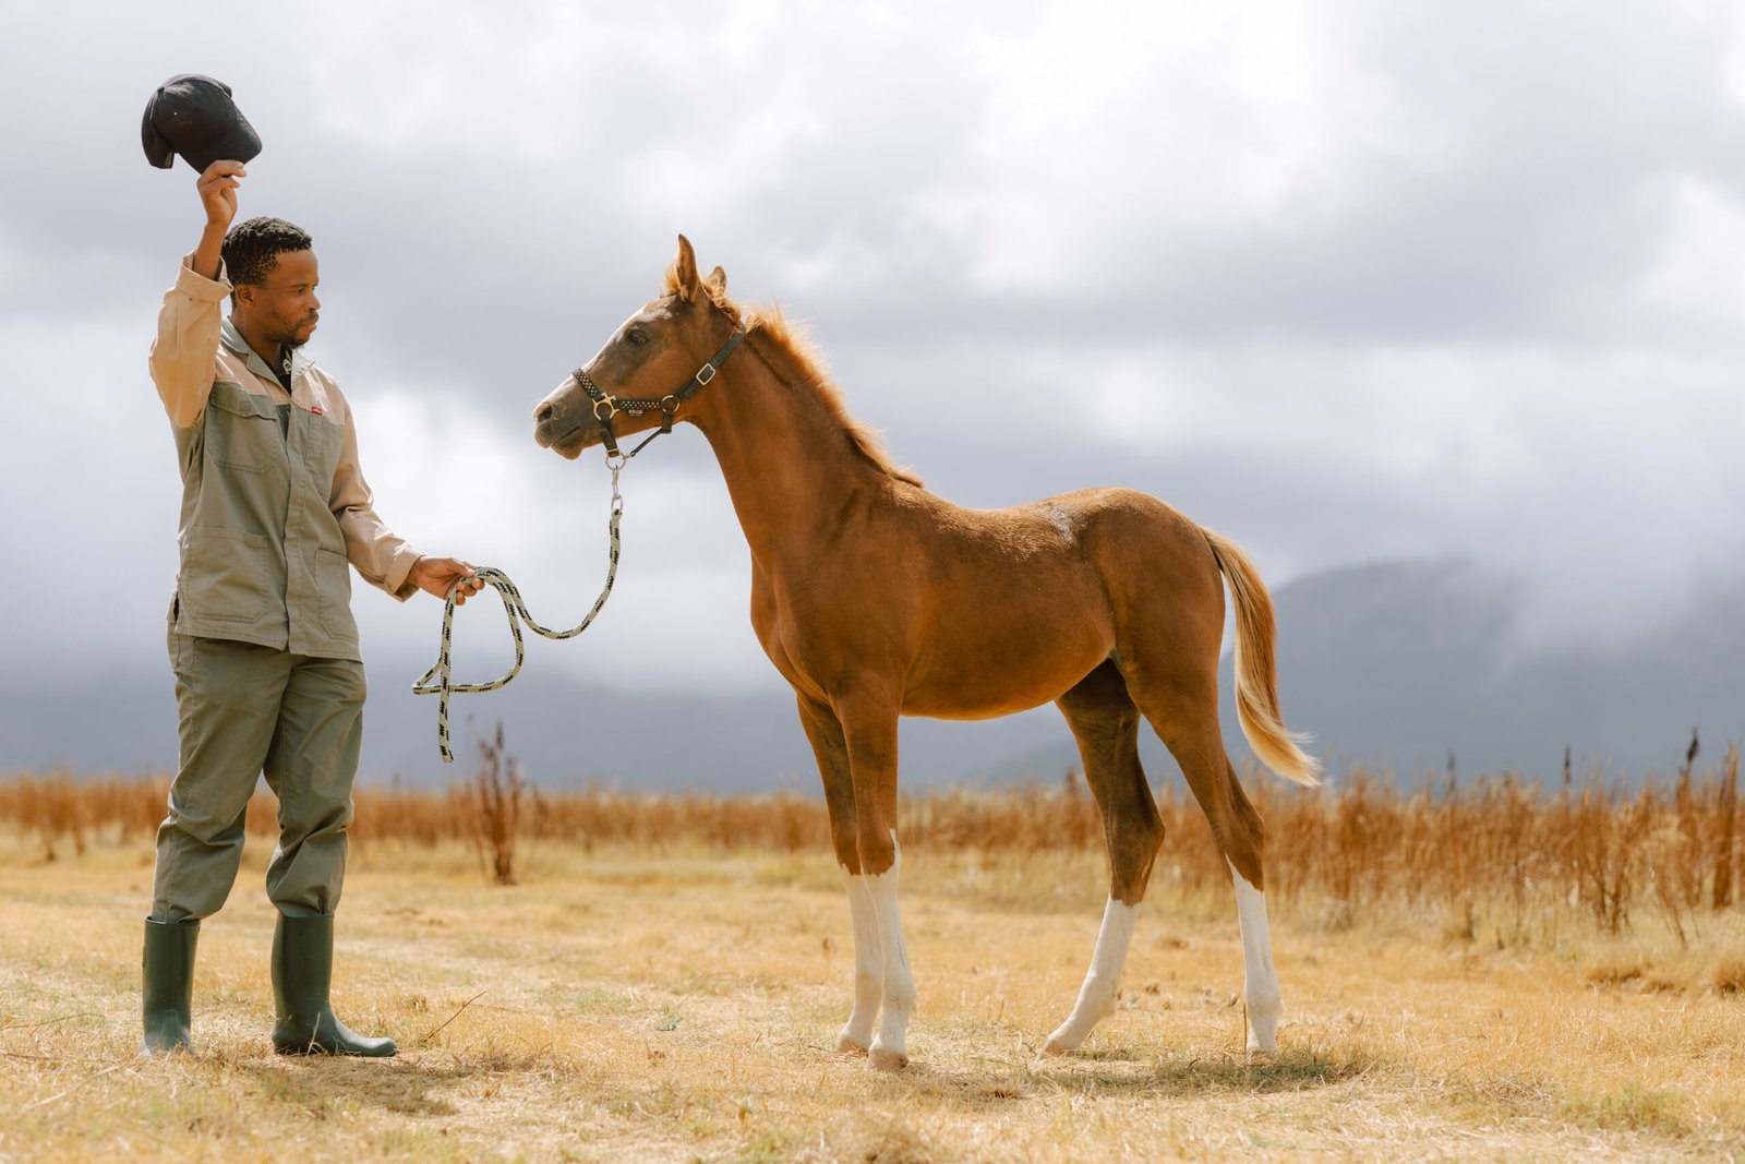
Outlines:
<svg viewBox="0 0 1745 1164"><path fill-rule="evenodd" d="M1415 789L1354 770L1321 789L1249 775L1267 822L1269 895L1344 925L1380 907L1434 911L1450 934L1480 928L1499 941L1530 937L1551 918L1583 918L1619 934L1647 914L1687 939L1703 916L1735 907L1738 749L1698 771L1694 754L1668 787L1632 787L1591 773L1544 789L1515 777ZM487 764L489 775L489 764ZM518 775L518 773L511 773ZM513 810L527 843L581 848L827 852L824 803L808 796L661 794L599 787L537 791L497 770L499 780L426 791L365 785L356 792L352 838L372 846L478 845L487 871L503 874L490 836L478 832L482 789L497 798L499 822ZM487 787L489 785L489 787ZM490 792L496 789L496 792ZM148 848L164 815L166 782L65 773L0 780L0 829L45 859L86 846ZM1187 892L1227 892L1223 860L1206 820L1176 784L1157 789L1166 825L1159 876ZM928 791L900 805L911 852L1033 855L1099 852L1103 827L1080 780L1012 791ZM248 829L276 832L274 803L260 791ZM515 864L508 866L510 874Z"/></svg>

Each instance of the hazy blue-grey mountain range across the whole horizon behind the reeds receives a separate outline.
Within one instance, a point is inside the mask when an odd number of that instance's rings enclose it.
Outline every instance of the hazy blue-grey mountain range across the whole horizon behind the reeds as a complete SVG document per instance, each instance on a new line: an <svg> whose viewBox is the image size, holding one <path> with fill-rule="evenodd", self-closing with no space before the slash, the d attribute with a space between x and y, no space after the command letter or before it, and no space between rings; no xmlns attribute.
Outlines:
<svg viewBox="0 0 1745 1164"><path fill-rule="evenodd" d="M1658 635L1621 646L1523 651L1520 585L1468 562L1382 562L1302 578L1274 595L1284 719L1316 736L1333 773L1354 763L1413 782L1447 770L1555 778L1570 747L1632 778L1672 771L1701 726L1708 756L1745 738L1745 581L1717 590ZM363 778L441 785L473 764L469 724L504 724L508 749L543 787L817 791L792 696L738 691L626 693L524 674L490 695L455 696L459 761L436 757L436 705L407 688L422 663L372 663ZM1230 660L1222 722L1232 756ZM1153 782L1174 771L1141 733ZM1059 714L1002 721L902 721L906 787L1054 782L1078 763ZM0 771L168 771L174 764L168 670L101 682L0 681Z"/></svg>

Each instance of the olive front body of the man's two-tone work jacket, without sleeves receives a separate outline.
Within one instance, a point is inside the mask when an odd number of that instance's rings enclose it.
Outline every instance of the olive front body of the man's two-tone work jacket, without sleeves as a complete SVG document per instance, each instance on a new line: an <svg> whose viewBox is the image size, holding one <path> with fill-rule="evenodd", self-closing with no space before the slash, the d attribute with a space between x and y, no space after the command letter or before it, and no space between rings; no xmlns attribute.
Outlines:
<svg viewBox="0 0 1745 1164"><path fill-rule="evenodd" d="M174 628L318 658L359 660L351 567L328 508L340 417L290 405L265 386L272 370L227 319L206 412L176 429L181 461L181 569ZM260 384L227 375L255 377ZM291 382L311 375L293 354ZM253 389L253 391L250 391Z"/></svg>

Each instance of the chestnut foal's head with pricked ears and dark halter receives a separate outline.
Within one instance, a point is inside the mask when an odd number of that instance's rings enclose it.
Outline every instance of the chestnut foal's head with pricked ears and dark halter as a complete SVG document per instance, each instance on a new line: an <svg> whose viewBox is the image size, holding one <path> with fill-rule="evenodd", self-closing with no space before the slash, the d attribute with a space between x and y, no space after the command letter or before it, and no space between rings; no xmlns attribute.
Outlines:
<svg viewBox="0 0 1745 1164"><path fill-rule="evenodd" d="M726 298L728 276L715 267L707 279L698 279L696 253L682 234L663 291L625 319L585 368L564 377L539 401L534 440L541 447L574 461L585 448L602 443L607 424L623 440L661 422L661 403L637 415L625 410L623 401L632 400L670 401L677 419L684 419L688 408L679 407L675 393L693 382L740 319ZM590 396L579 377L592 380L611 403Z"/></svg>

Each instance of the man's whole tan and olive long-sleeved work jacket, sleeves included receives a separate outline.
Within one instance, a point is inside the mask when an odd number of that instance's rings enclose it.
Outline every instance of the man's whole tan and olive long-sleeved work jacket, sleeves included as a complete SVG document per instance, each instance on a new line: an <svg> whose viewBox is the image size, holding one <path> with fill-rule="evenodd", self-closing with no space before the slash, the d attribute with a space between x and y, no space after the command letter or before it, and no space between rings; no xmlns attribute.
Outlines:
<svg viewBox="0 0 1745 1164"><path fill-rule="evenodd" d="M405 600L419 553L373 510L339 384L297 349L284 391L222 316L229 295L223 269L183 258L152 344L181 462L176 630L356 660L347 562Z"/></svg>

